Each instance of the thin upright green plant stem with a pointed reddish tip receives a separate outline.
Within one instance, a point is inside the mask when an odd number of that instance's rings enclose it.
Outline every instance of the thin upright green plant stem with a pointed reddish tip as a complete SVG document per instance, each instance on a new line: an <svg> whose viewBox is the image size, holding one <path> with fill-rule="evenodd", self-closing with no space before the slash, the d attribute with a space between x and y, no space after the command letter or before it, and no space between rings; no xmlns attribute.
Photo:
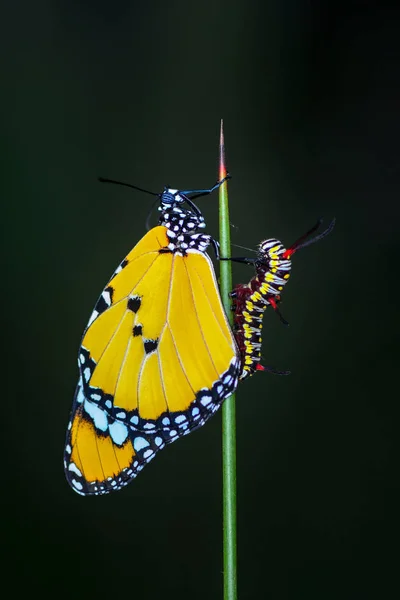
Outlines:
<svg viewBox="0 0 400 600"><path fill-rule="evenodd" d="M219 176L226 176L225 143L221 121ZM227 182L219 188L219 242L221 256L230 257L230 221ZM232 269L230 261L220 262L221 297L232 324L231 300ZM224 600L237 598L236 563L236 417L235 395L222 406L222 471L223 471L223 527L224 527Z"/></svg>

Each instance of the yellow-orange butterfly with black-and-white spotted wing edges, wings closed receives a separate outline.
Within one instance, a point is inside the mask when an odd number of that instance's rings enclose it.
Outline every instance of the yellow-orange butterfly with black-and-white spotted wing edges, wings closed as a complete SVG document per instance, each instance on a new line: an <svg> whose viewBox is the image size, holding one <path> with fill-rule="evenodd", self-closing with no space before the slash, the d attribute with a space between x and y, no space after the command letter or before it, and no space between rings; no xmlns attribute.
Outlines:
<svg viewBox="0 0 400 600"><path fill-rule="evenodd" d="M165 445L211 417L237 387L240 354L193 199L165 187L159 224L120 263L83 333L64 469L81 495L127 485ZM103 180L119 183L114 180Z"/></svg>

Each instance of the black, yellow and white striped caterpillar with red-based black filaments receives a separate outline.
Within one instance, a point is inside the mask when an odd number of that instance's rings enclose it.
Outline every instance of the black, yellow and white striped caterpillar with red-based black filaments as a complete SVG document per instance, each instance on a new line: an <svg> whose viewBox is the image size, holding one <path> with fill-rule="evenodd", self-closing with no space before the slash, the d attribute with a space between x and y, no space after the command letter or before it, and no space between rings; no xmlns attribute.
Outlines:
<svg viewBox="0 0 400 600"><path fill-rule="evenodd" d="M272 306L282 323L288 325L279 311L278 303L281 299L281 292L290 277L291 258L300 248L323 239L335 225L335 219L333 219L325 231L309 239L321 222L320 219L314 227L287 249L282 242L271 238L259 244L257 258L227 259L252 264L256 270L255 276L249 283L237 284L230 294L233 298L235 338L242 357L240 379L253 375L255 371L270 371L279 375L289 374L288 371L277 371L261 365L262 320L267 306Z"/></svg>

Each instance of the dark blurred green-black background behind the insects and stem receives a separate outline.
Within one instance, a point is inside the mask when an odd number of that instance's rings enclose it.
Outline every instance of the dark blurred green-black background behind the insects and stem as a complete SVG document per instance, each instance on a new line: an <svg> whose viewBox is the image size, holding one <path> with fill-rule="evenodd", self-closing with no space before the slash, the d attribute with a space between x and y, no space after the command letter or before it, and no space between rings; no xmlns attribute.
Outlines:
<svg viewBox="0 0 400 600"><path fill-rule="evenodd" d="M62 454L81 334L151 203L96 179L208 187L223 117L234 243L291 244L337 219L293 259L290 327L266 315L264 362L292 374L238 390L239 598L396 597L397 10L21 0L1 13L14 594L222 597L220 413L114 495L76 495ZM218 237L217 194L199 203ZM251 276L234 266L236 283Z"/></svg>

